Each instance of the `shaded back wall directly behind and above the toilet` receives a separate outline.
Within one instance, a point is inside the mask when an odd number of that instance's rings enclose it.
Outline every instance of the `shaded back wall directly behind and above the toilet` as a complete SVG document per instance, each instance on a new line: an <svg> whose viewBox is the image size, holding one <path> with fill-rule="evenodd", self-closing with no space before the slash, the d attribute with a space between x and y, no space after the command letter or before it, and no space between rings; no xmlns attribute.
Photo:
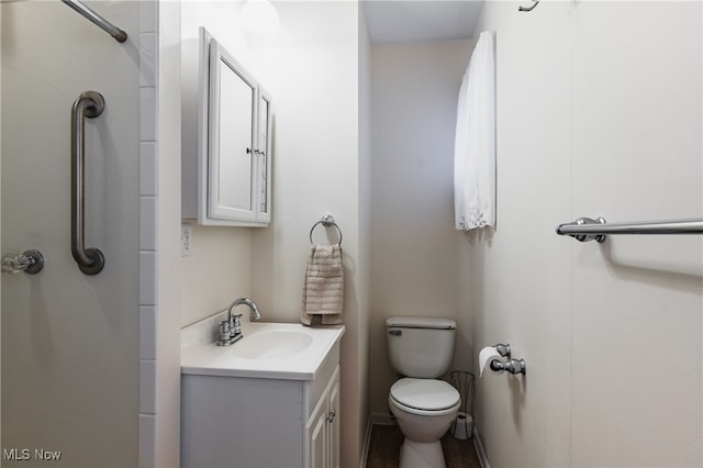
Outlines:
<svg viewBox="0 0 703 468"><path fill-rule="evenodd" d="M468 370L464 236L454 229L454 134L473 42L371 46L371 411L388 412L395 371L386 319L447 316L458 324L451 369Z"/></svg>

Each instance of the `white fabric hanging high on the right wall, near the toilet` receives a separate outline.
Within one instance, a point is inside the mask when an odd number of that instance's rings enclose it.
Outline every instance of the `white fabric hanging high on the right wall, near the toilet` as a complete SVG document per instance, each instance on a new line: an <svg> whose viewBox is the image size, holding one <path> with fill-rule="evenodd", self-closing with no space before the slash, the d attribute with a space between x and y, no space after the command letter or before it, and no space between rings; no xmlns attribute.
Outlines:
<svg viewBox="0 0 703 468"><path fill-rule="evenodd" d="M495 227L495 47L484 31L464 74L454 146L457 230Z"/></svg>

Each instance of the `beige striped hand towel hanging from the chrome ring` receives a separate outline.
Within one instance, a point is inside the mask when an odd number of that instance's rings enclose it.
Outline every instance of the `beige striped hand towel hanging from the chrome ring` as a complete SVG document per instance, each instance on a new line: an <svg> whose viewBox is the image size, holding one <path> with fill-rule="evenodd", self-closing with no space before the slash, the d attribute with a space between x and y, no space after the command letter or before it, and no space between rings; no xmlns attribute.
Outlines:
<svg viewBox="0 0 703 468"><path fill-rule="evenodd" d="M323 325L341 325L344 305L342 246L313 245L305 268L300 321L311 325L321 315Z"/></svg>

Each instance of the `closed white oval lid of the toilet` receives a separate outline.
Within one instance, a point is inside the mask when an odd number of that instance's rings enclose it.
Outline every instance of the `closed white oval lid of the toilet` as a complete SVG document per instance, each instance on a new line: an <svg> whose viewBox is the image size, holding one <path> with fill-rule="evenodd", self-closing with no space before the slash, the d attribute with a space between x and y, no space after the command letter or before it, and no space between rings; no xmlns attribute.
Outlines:
<svg viewBox="0 0 703 468"><path fill-rule="evenodd" d="M405 406L426 411L446 410L460 400L457 389L444 380L410 377L393 383L391 398Z"/></svg>

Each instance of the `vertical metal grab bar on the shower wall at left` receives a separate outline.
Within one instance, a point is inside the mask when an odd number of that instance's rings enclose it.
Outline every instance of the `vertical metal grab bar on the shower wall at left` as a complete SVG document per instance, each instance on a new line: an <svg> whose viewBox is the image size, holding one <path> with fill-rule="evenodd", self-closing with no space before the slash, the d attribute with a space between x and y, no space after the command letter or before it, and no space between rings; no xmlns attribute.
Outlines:
<svg viewBox="0 0 703 468"><path fill-rule="evenodd" d="M97 118L105 108L102 94L96 91L82 92L71 108L70 142L70 252L78 268L86 275L98 275L105 265L105 258L97 248L85 246L85 165L86 165L86 118Z"/></svg>

